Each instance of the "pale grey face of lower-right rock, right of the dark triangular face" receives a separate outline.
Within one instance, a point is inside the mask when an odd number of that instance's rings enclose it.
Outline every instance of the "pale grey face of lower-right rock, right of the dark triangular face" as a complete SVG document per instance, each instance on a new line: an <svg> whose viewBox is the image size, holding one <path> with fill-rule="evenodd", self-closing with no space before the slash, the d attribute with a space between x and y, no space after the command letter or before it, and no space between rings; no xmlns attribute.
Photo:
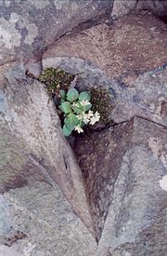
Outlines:
<svg viewBox="0 0 167 256"><path fill-rule="evenodd" d="M99 255L108 247L110 255L125 255L126 251L133 256L166 255L167 192L160 186L167 173L166 134L166 128L135 118L132 140L111 195ZM132 243L130 250L128 243ZM119 247L124 250L120 254Z"/></svg>

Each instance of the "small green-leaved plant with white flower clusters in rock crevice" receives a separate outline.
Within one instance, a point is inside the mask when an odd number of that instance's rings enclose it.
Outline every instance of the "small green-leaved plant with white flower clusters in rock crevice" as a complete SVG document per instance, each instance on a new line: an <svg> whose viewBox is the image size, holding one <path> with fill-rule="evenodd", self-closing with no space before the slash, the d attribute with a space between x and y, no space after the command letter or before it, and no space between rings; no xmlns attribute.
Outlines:
<svg viewBox="0 0 167 256"><path fill-rule="evenodd" d="M61 100L58 108L63 113L65 136L71 135L73 130L81 133L84 126L94 125L99 121L99 113L91 110L91 94L88 91L79 93L76 88L70 88L67 93L65 90L60 90L59 93Z"/></svg>

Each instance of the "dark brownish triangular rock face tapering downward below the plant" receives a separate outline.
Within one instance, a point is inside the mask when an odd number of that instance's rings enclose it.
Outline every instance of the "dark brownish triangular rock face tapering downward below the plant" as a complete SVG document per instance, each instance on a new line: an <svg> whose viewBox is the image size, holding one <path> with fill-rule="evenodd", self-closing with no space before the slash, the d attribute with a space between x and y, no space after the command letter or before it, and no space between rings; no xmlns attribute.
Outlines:
<svg viewBox="0 0 167 256"><path fill-rule="evenodd" d="M83 170L86 193L99 241L108 215L114 184L117 181L122 157L132 137L132 123L118 128L84 134L75 141L74 152Z"/></svg>

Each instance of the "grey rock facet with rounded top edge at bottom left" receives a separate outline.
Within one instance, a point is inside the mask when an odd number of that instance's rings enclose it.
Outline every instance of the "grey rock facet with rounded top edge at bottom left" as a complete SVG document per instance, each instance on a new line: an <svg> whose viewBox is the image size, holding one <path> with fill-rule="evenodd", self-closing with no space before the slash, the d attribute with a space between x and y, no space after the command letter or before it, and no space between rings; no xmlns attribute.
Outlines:
<svg viewBox="0 0 167 256"><path fill-rule="evenodd" d="M4 198L12 230L2 243L10 250L25 256L94 255L95 238L74 214L58 186L32 182L10 190Z"/></svg>

